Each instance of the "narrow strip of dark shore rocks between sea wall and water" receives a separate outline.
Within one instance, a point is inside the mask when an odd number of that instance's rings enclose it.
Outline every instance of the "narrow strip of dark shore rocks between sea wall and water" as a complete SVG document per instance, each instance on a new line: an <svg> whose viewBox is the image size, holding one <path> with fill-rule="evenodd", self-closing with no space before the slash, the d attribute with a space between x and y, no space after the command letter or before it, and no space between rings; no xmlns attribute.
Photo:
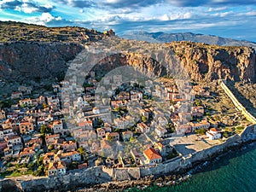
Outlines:
<svg viewBox="0 0 256 192"><path fill-rule="evenodd" d="M195 163L192 167L178 172L170 172L167 175L151 175L148 177L141 178L139 180L131 181L113 181L108 183L96 184L90 188L76 189L73 192L93 192L93 191L126 191L129 189L147 189L150 186L167 187L178 185L183 182L187 182L190 177L196 172L201 172L202 167L210 166L213 162L218 161L220 158L230 154L244 150L251 145L256 145L256 140L241 143L241 145L232 146L227 148L226 151L220 154L214 154L208 160L202 160L201 162Z"/></svg>

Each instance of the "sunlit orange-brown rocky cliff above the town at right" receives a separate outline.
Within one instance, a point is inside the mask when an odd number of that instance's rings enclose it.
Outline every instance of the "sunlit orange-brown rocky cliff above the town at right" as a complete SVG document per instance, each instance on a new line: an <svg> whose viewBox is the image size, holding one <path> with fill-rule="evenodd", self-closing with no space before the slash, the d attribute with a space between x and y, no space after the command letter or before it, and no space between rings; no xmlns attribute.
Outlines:
<svg viewBox="0 0 256 192"><path fill-rule="evenodd" d="M116 41L116 39L115 39ZM191 79L211 81L230 79L234 81L255 81L255 53L253 48L238 46L218 46L192 42L172 42L169 44L149 44L146 42L119 40L111 45L127 50L120 55L112 55L102 61L121 62L121 65L146 67L149 71L160 70L159 75L183 70Z"/></svg>

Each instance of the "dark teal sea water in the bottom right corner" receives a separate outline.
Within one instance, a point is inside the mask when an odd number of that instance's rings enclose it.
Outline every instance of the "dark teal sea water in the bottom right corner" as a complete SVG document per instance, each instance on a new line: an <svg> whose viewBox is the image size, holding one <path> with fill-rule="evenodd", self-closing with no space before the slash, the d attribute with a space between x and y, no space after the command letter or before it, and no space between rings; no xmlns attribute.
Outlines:
<svg viewBox="0 0 256 192"><path fill-rule="evenodd" d="M128 191L256 192L256 143L205 162L190 173L188 181L175 186L150 186Z"/></svg>

